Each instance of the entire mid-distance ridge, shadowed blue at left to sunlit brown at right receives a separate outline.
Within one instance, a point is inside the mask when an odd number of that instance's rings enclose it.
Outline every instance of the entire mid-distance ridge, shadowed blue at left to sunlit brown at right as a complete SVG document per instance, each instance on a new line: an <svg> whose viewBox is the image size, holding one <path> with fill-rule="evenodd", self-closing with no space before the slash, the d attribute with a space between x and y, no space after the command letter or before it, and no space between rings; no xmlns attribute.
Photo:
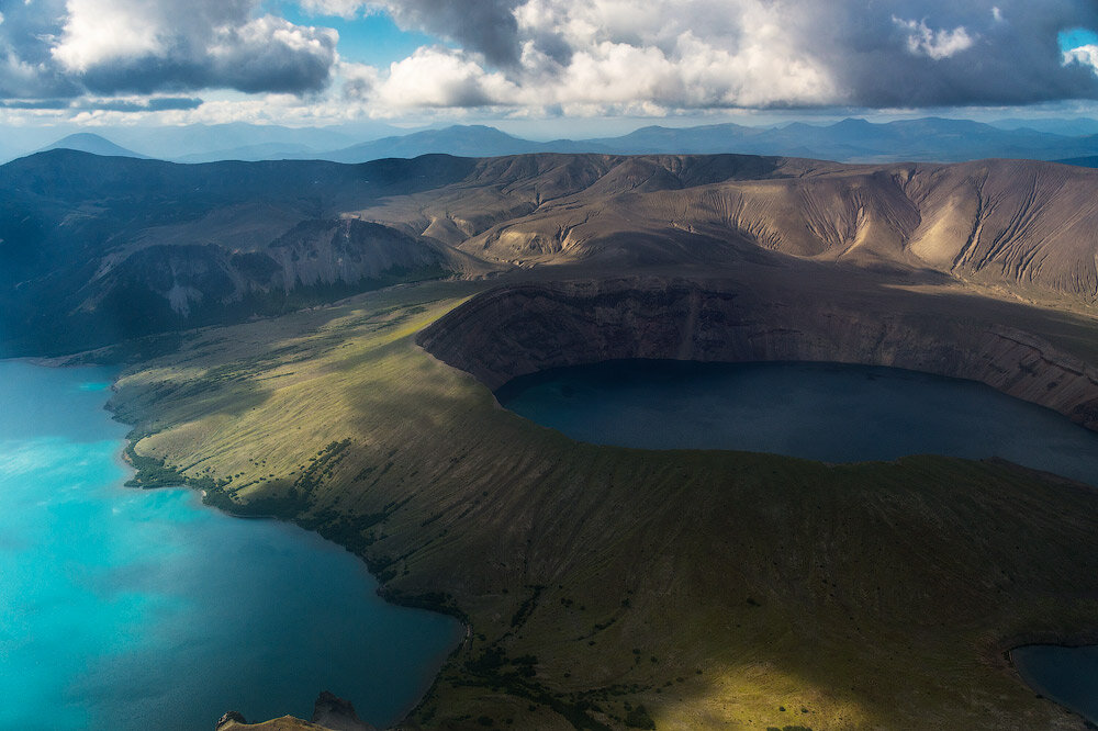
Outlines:
<svg viewBox="0 0 1098 731"><path fill-rule="evenodd" d="M842 261L1094 306L1096 232L1098 175L1028 160L536 154L179 165L55 149L0 166L0 357L548 266Z"/></svg>

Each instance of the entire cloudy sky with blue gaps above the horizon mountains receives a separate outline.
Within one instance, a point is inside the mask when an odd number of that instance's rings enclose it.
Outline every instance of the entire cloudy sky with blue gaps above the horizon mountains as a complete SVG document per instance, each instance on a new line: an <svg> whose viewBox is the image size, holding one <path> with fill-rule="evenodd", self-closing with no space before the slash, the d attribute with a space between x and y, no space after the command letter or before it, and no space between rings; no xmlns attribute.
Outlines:
<svg viewBox="0 0 1098 731"><path fill-rule="evenodd" d="M1098 116L1096 32L1096 0L0 0L0 123Z"/></svg>

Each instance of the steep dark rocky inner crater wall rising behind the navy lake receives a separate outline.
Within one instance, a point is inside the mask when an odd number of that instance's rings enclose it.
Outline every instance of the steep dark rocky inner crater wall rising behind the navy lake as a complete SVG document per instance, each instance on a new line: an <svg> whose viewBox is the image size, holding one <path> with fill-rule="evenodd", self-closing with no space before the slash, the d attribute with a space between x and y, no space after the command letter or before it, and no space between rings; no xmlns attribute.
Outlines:
<svg viewBox="0 0 1098 731"><path fill-rule="evenodd" d="M981 381L1098 430L1098 369L994 308L952 315L912 297L877 306L733 281L619 279L505 286L418 342L491 389L550 368L624 358L836 361ZM903 303L907 306L898 306Z"/></svg>

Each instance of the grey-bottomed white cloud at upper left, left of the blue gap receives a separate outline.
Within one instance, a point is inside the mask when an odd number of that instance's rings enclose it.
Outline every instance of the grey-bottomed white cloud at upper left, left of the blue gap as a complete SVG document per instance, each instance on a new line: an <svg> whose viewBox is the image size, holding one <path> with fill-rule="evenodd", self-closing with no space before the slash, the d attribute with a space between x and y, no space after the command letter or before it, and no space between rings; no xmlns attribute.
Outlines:
<svg viewBox="0 0 1098 731"><path fill-rule="evenodd" d="M326 88L338 34L258 14L260 0L4 4L0 98Z"/></svg>

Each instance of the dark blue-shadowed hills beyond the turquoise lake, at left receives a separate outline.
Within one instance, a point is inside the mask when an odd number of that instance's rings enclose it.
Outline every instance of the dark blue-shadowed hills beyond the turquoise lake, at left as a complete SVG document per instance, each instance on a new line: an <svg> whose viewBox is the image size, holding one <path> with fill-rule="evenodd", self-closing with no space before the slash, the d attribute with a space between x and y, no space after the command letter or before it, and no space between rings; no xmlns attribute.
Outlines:
<svg viewBox="0 0 1098 731"><path fill-rule="evenodd" d="M460 270L469 257L433 239L340 213L472 166L184 166L72 150L10 162L0 167L0 356L278 314Z"/></svg>

